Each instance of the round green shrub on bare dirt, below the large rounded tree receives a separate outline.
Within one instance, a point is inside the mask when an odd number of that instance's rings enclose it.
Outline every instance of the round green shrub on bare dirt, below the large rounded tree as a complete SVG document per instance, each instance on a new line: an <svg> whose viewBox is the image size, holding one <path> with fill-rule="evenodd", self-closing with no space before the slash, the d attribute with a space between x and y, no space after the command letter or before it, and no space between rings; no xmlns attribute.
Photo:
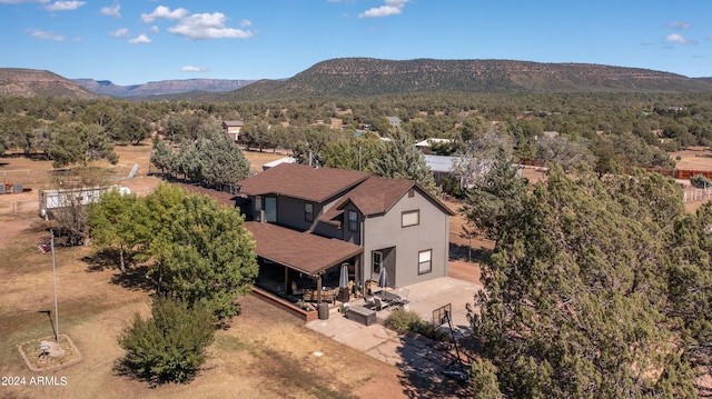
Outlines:
<svg viewBox="0 0 712 399"><path fill-rule="evenodd" d="M207 359L215 338L210 311L176 299L157 299L151 318L136 313L119 337L126 349L123 366L137 378L152 383L188 382Z"/></svg>

